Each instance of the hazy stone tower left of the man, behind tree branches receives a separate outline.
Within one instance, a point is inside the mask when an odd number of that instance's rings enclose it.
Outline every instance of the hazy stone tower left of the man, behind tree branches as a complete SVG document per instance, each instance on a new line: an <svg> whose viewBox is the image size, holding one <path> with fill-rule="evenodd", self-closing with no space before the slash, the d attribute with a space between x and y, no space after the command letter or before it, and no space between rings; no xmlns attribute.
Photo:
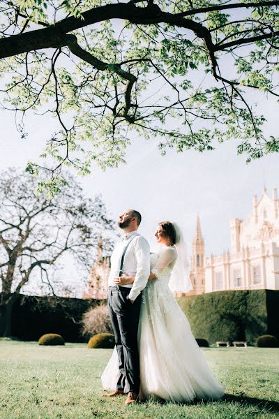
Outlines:
<svg viewBox="0 0 279 419"><path fill-rule="evenodd" d="M107 298L107 282L110 275L110 257L103 256L103 239L99 237L97 258L90 270L89 285L83 298Z"/></svg>

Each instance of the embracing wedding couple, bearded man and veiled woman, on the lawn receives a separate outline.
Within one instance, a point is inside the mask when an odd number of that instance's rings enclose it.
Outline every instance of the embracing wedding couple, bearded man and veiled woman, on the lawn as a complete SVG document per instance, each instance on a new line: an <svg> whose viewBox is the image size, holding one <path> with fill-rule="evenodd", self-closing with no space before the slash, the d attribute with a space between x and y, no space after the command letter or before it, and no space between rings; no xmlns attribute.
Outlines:
<svg viewBox="0 0 279 419"><path fill-rule="evenodd" d="M169 402L220 399L223 388L211 373L172 291L187 292L186 249L176 224L158 224L162 248L150 256L137 233L141 215L119 216L125 235L111 258L107 303L115 337L102 374L104 397L127 395L126 404L149 396Z"/></svg>

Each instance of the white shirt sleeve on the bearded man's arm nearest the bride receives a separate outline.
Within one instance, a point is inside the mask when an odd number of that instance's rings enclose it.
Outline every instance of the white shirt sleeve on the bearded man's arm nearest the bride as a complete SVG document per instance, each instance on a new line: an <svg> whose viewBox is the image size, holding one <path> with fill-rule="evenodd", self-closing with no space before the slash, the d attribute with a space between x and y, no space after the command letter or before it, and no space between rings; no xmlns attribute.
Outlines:
<svg viewBox="0 0 279 419"><path fill-rule="evenodd" d="M133 301L135 301L135 299L140 295L140 292L146 286L150 274L149 243L142 236L135 238L135 259L137 261L137 271L133 286L128 295L130 300Z"/></svg>

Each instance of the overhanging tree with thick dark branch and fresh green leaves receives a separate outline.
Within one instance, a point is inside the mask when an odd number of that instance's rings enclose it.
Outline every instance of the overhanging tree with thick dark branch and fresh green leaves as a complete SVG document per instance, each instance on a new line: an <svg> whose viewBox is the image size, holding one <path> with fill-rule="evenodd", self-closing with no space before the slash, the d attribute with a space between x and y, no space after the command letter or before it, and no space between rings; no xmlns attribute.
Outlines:
<svg viewBox="0 0 279 419"><path fill-rule="evenodd" d="M278 0L0 5L3 107L56 117L42 155L52 175L63 163L83 174L92 161L117 166L135 133L158 138L163 154L232 138L248 161L278 152L248 97L279 95Z"/></svg>

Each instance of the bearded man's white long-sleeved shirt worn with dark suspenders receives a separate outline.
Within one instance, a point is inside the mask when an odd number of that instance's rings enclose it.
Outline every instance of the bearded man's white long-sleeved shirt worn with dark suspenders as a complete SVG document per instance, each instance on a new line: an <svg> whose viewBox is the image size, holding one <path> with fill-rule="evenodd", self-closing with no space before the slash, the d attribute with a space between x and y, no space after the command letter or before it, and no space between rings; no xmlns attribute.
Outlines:
<svg viewBox="0 0 279 419"><path fill-rule="evenodd" d="M121 257L126 248L128 241L133 235L137 235L130 242L125 254L123 262L123 274L128 277L135 277L133 284L121 285L126 288L131 288L128 295L130 300L135 301L140 292L144 289L149 279L150 274L150 249L147 240L139 235L137 231L132 231L122 237L121 242L116 244L112 256L110 258L111 268L108 286L115 286L114 278L119 277L119 269L121 264Z"/></svg>

